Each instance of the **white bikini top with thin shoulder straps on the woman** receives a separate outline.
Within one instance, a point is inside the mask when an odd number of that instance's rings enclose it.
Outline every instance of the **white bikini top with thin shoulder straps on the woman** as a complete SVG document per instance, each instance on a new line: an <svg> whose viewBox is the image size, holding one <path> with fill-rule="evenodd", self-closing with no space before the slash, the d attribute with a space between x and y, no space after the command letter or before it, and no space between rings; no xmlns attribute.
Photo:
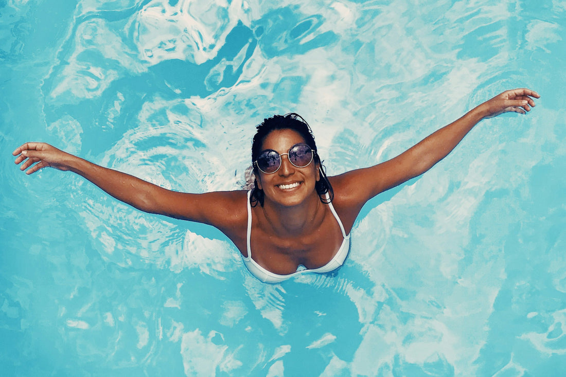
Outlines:
<svg viewBox="0 0 566 377"><path fill-rule="evenodd" d="M276 283L280 281L284 281L289 279L292 276L299 275L300 273L305 272L316 272L316 273L326 273L331 272L340 267L344 264L344 260L346 256L348 256L348 252L350 251L350 235L346 235L346 231L344 230L344 225L342 225L342 221L340 221L340 217L336 213L332 203L328 203L330 207L330 211L332 215L334 215L338 225L340 225L340 230L342 230L342 236L344 237L344 241L342 241L342 245L340 245L340 249L336 252L335 256L332 257L330 262L323 265L319 268L304 268L303 265L299 265L296 272L290 273L289 275L279 275L277 273L273 273L271 271L267 271L267 269L261 267L255 260L251 258L251 247L250 247L250 239L251 239L251 204L250 204L250 194L251 191L248 191L248 200L247 200L247 208L248 208L248 227L247 227L247 258L243 257L244 263L248 270L250 270L251 274L257 277L259 280L267 283ZM328 193L326 194L326 198L328 199Z"/></svg>

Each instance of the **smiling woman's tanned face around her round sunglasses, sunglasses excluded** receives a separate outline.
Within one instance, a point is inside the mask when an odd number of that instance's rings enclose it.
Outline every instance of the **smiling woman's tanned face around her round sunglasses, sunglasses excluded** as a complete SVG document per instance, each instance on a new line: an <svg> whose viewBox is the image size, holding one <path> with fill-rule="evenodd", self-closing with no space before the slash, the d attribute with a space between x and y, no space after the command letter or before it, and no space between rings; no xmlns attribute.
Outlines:
<svg viewBox="0 0 566 377"><path fill-rule="evenodd" d="M305 143L297 131L288 128L273 130L265 137L261 150L273 149L277 153L288 153L295 144ZM281 156L281 167L272 174L259 173L258 188L263 190L265 200L292 207L303 203L310 195L317 195L315 183L320 179L318 164L313 161L304 168L289 162L289 156Z"/></svg>

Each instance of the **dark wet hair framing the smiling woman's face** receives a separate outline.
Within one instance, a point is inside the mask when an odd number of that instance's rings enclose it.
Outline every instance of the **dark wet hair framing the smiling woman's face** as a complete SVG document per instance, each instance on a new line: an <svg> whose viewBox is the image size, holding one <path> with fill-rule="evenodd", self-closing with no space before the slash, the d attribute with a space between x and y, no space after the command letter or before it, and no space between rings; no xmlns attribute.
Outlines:
<svg viewBox="0 0 566 377"><path fill-rule="evenodd" d="M311 127L308 123L301 117L301 115L296 113L289 113L285 115L273 115L271 118L266 118L257 127L257 132L254 136L254 141L251 145L251 161L254 167L254 174L256 177L259 175L258 166L255 166L254 161L258 159L260 153L263 151L261 149L265 138L267 135L274 130L293 130L298 132L299 135L305 139L305 143L311 147L314 153L314 162L319 164L320 179L316 181L315 188L316 193L319 195L320 201L323 203L330 203L334 199L334 190L332 185L328 181L325 173L325 168L322 165L318 151L316 149L315 137L312 135ZM263 190L258 188L258 179L254 179L254 188L251 190L250 203L253 207L258 205L258 203L263 207L264 193ZM328 199L326 195L328 192Z"/></svg>

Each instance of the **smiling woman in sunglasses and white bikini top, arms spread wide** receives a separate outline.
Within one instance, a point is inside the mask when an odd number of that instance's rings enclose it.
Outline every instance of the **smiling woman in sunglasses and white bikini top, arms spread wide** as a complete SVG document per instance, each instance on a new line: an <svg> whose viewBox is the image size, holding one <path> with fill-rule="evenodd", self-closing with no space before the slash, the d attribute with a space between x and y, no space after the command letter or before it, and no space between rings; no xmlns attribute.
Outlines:
<svg viewBox="0 0 566 377"><path fill-rule="evenodd" d="M256 179L248 192L170 191L45 143L25 143L12 154L27 174L47 166L70 170L141 211L213 225L234 242L254 276L278 282L340 267L350 230L368 200L426 172L482 119L526 114L539 97L525 88L505 91L389 161L328 178L307 123L297 114L276 115L254 136Z"/></svg>

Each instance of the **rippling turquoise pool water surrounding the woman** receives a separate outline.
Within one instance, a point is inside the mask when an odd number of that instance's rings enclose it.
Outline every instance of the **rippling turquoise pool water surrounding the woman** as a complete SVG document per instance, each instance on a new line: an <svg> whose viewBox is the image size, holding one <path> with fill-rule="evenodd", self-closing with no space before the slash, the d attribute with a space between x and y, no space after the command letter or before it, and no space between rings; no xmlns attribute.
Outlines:
<svg viewBox="0 0 566 377"><path fill-rule="evenodd" d="M566 370L561 1L0 1L0 374L559 376ZM36 140L181 191L240 187L297 112L334 175L504 89L362 211L329 275L262 284L207 226L140 213Z"/></svg>

